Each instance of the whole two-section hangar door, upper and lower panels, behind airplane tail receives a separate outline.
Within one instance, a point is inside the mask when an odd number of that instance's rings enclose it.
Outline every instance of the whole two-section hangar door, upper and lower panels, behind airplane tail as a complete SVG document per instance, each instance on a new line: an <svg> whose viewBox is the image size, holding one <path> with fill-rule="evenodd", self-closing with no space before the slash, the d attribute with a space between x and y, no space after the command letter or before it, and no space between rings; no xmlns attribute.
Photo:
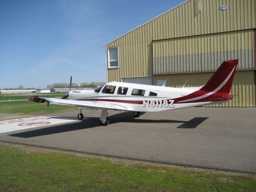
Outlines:
<svg viewBox="0 0 256 192"><path fill-rule="evenodd" d="M238 95L226 107L254 107L253 30L157 40L153 42L154 84L167 79L167 86L202 86L225 60L238 59L230 94ZM203 72L203 73L202 73Z"/></svg>

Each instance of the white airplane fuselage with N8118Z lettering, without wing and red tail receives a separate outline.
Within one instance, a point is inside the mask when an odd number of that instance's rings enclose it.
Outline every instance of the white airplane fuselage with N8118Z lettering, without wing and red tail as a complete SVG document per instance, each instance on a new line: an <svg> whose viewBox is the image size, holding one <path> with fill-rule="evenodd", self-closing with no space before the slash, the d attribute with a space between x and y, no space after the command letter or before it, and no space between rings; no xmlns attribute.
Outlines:
<svg viewBox="0 0 256 192"><path fill-rule="evenodd" d="M114 92L111 94L104 93L103 89L105 86L111 86L114 88ZM126 95L118 94L118 88L128 88ZM144 95L132 94L134 89L145 90L143 93ZM69 97L70 100L84 100L95 103L111 103L121 105L128 110L140 112L158 112L226 102L206 101L180 104L174 103L175 99L192 94L199 89L200 87L170 88L125 82L110 82L104 85L98 93L95 92L95 90L75 90L69 92ZM152 96L152 94L150 95L150 92L154 93L156 96Z"/></svg>

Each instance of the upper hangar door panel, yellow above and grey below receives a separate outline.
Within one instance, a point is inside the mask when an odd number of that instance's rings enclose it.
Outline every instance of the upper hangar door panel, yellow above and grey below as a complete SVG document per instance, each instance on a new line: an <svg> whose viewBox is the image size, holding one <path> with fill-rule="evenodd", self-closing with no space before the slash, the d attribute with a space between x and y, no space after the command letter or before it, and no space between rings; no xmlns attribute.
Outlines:
<svg viewBox="0 0 256 192"><path fill-rule="evenodd" d="M238 69L254 68L253 30L153 42L154 74L214 71L234 59Z"/></svg>

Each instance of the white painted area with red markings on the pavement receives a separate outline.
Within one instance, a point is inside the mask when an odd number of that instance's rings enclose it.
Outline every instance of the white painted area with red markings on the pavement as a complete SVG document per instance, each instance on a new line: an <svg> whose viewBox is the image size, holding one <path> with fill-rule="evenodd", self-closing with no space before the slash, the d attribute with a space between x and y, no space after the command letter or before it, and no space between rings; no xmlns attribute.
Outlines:
<svg viewBox="0 0 256 192"><path fill-rule="evenodd" d="M87 119L87 118L84 118ZM39 116L0 121L0 133L78 121L74 117Z"/></svg>

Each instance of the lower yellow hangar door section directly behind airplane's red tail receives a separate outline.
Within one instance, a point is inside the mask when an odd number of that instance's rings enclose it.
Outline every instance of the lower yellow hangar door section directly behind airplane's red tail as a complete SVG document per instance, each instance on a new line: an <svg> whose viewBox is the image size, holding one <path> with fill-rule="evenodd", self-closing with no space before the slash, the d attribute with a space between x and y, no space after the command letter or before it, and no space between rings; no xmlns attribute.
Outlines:
<svg viewBox="0 0 256 192"><path fill-rule="evenodd" d="M202 86L208 82L213 72L207 73L190 73L190 74L170 74L170 75L157 75L154 76L154 84L157 80L167 79L168 87L182 87L186 81L185 87ZM255 90L254 90L254 71L236 71L234 81L230 90L230 94L235 96L231 101L221 105L224 107L255 107Z"/></svg>

